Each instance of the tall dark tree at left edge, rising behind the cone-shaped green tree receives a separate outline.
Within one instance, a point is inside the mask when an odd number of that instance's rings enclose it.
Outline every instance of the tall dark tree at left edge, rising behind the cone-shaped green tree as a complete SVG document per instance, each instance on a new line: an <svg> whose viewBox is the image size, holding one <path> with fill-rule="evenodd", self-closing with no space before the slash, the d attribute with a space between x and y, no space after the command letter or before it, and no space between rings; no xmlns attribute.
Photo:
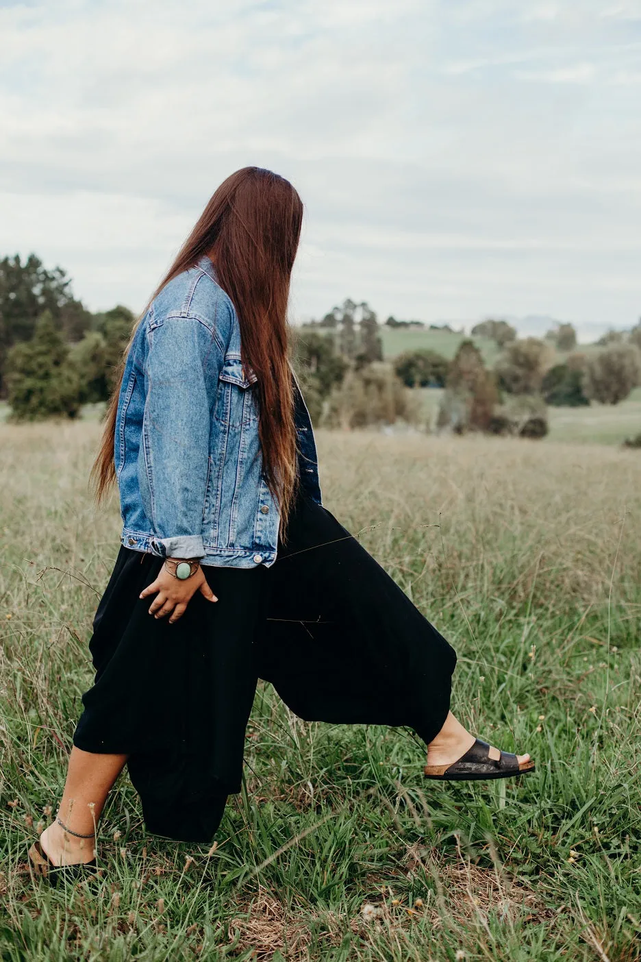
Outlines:
<svg viewBox="0 0 641 962"><path fill-rule="evenodd" d="M61 267L47 270L35 254L23 263L20 256L0 261L0 378L13 344L29 341L37 318L48 311L54 327L69 341L88 329L90 315L74 299L71 281Z"/></svg>

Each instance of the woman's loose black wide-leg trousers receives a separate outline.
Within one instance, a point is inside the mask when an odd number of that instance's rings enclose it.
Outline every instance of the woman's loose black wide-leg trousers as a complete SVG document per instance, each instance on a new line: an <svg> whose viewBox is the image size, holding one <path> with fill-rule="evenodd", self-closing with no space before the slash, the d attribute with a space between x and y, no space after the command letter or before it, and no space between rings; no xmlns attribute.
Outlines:
<svg viewBox="0 0 641 962"><path fill-rule="evenodd" d="M162 559L121 547L98 605L96 670L74 745L129 755L149 832L208 843L240 791L259 678L302 719L408 725L426 742L450 706L456 654L357 539L299 494L269 568L204 566L175 624L138 595ZM356 682L357 679L357 683Z"/></svg>

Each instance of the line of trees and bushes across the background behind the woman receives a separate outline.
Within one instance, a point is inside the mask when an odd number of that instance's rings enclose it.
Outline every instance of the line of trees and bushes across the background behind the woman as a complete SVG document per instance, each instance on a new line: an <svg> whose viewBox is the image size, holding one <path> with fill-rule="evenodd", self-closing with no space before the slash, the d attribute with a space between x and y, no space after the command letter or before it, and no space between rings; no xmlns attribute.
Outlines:
<svg viewBox="0 0 641 962"><path fill-rule="evenodd" d="M9 401L12 418L73 418L83 404L106 401L135 320L120 305L87 311L65 271L45 268L35 254L24 262L17 255L5 257L0 396ZM422 322L390 316L384 325ZM500 349L491 368L471 339L458 344L452 360L419 348L385 362L382 326L366 301L347 298L322 320L293 329L293 361L316 424L420 423L420 393L407 389L436 387L444 389L440 428L542 437L548 404L617 404L641 383L641 322L580 350L572 324L556 325L543 339L519 338L507 321L486 319L471 333ZM460 334L449 325L431 325L436 327Z"/></svg>

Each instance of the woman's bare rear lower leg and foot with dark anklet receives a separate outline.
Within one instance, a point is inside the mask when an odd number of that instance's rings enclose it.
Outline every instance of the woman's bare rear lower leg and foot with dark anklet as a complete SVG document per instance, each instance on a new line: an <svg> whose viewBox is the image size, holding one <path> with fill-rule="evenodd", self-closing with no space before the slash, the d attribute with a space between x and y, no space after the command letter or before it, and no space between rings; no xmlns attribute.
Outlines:
<svg viewBox="0 0 641 962"><path fill-rule="evenodd" d="M59 815L62 823L80 835L96 831L111 786L122 772L127 755L101 755L72 747ZM54 822L40 835L40 845L54 865L90 862L95 838L77 838Z"/></svg>

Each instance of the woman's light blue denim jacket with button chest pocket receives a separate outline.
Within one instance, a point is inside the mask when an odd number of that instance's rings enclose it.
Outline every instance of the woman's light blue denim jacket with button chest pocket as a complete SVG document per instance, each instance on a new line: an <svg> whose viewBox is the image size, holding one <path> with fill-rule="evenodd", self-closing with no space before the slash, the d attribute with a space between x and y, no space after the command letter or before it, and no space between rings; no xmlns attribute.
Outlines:
<svg viewBox="0 0 641 962"><path fill-rule="evenodd" d="M276 560L279 508L262 474L253 372L210 259L167 284L136 329L118 398L122 544L226 568ZM292 372L292 377L294 377ZM298 474L318 504L316 445L294 377Z"/></svg>

